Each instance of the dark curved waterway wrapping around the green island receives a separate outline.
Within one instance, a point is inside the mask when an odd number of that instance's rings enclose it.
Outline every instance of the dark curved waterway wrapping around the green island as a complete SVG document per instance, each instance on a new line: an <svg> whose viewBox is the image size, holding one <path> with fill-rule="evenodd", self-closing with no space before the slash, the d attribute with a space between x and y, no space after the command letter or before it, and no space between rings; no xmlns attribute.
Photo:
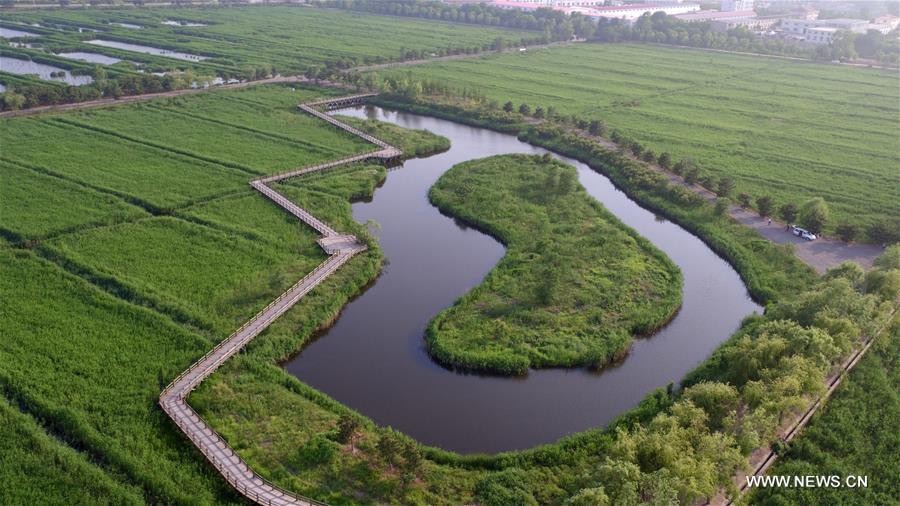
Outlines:
<svg viewBox="0 0 900 506"><path fill-rule="evenodd" d="M353 205L374 232L388 263L378 280L287 370L342 403L417 440L462 453L529 448L603 426L655 388L678 382L761 308L738 274L702 241L639 207L587 165L581 184L623 222L663 250L684 274L684 305L627 358L600 372L532 370L521 378L453 372L425 350L424 330L503 256L494 239L442 215L428 189L453 165L504 153L547 151L514 136L451 121L366 107L340 111L450 139L449 151L406 161L388 173L371 202Z"/></svg>

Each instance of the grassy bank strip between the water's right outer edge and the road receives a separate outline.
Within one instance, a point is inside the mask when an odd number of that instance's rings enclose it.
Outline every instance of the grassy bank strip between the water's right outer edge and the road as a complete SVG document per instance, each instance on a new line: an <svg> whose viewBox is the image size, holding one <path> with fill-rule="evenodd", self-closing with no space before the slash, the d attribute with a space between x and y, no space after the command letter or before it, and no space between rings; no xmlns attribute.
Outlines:
<svg viewBox="0 0 900 506"><path fill-rule="evenodd" d="M762 303L789 297L807 288L815 272L796 258L788 246L773 244L756 231L715 212L694 193L669 184L648 167L610 151L556 122L533 124L519 114L506 113L479 101L433 97L429 103L378 97L385 107L410 110L518 135L520 139L578 159L610 180L642 207L691 231L726 259Z"/></svg>

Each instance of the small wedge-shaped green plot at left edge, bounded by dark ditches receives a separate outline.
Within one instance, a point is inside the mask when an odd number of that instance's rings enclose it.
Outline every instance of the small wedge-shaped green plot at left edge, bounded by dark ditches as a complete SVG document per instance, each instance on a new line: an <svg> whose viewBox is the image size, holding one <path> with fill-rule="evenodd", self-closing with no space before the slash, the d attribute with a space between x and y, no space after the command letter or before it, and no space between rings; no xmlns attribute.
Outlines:
<svg viewBox="0 0 900 506"><path fill-rule="evenodd" d="M14 242L148 216L118 197L0 162L0 234Z"/></svg>

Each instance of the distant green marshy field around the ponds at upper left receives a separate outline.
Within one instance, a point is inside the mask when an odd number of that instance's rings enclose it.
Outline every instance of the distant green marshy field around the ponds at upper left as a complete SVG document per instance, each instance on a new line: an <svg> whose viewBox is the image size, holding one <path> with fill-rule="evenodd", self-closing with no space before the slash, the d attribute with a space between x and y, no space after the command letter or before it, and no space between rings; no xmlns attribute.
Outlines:
<svg viewBox="0 0 900 506"><path fill-rule="evenodd" d="M35 31L46 34L41 41L53 46L99 52L155 66L168 60L173 67L190 66L201 72L235 72L244 67L268 65L285 75L303 73L310 65L379 63L400 59L407 50L425 54L448 48L480 50L497 38L516 44L523 38L542 35L524 30L301 6L59 10L15 13L4 19L40 23L47 28ZM162 24L167 20L206 26ZM128 23L143 28L110 23ZM55 27L65 31L53 30ZM100 33L78 33L77 27ZM184 62L83 43L94 37L172 49L209 59Z"/></svg>

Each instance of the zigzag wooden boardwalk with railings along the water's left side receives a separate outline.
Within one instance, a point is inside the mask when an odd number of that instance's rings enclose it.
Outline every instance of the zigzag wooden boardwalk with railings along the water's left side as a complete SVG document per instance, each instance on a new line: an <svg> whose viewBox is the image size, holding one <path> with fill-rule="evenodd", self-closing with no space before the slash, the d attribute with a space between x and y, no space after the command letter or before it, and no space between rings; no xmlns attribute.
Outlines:
<svg viewBox="0 0 900 506"><path fill-rule="evenodd" d="M279 316L296 304L297 301L309 293L310 290L337 271L340 266L353 258L354 255L365 251L366 246L361 244L356 237L340 234L327 223L313 216L309 211L306 211L273 190L268 184L314 172L321 172L351 163L363 162L366 160L387 161L402 155L402 152L399 149L394 148L390 144L361 132L360 130L342 123L316 109L316 107L336 109L339 107L356 105L361 103L366 97L372 95L373 94L352 95L349 97L320 100L309 104L300 104L299 108L300 110L321 118L342 130L362 137L380 149L335 160L333 162L291 170L275 176L254 179L250 182L250 186L262 193L266 198L319 232L322 237L319 238L318 243L322 249L328 253L328 259L319 264L312 272L304 276L303 279L297 281L294 286L290 287L277 299L273 300L268 306L263 308L262 311L244 323L239 329L235 330L227 339L220 342L215 348L201 357L200 360L194 362L194 364L186 371L179 374L159 396L159 405L162 407L163 411L169 415L169 418L175 422L175 425L181 429L192 443L194 443L197 449L203 453L206 459L217 471L219 471L225 480L244 497L247 497L258 504L274 506L318 506L323 505L324 503L292 494L256 474L250 469L247 463L231 449L222 436L216 433L216 431L214 431L203 418L190 407L187 403L187 397L200 385L200 383L203 382L204 379L215 372L216 369L228 361L229 358L238 353L241 348L265 330L272 322L277 320Z"/></svg>

